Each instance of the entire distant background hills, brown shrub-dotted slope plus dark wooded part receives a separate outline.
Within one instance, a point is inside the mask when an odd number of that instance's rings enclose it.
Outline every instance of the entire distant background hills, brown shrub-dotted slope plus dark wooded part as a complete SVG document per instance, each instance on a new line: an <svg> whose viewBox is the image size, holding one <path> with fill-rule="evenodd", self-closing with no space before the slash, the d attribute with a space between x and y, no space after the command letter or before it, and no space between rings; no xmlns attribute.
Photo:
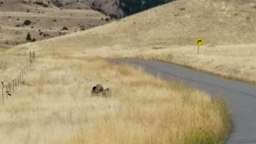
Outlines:
<svg viewBox="0 0 256 144"><path fill-rule="evenodd" d="M58 37L78 30L101 26L111 19L158 6L163 0L2 0L0 1L0 48L26 42L26 34L36 40ZM164 0L170 2L171 0ZM29 26L23 22L30 20ZM61 31L66 26L69 30Z"/></svg>

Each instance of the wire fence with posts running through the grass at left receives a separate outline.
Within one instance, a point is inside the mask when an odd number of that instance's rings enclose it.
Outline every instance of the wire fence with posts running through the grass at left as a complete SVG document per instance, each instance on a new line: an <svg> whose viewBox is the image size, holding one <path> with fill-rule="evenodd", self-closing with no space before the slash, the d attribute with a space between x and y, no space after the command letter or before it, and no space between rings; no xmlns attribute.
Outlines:
<svg viewBox="0 0 256 144"><path fill-rule="evenodd" d="M30 61L25 65L22 65L22 69L15 78L12 78L9 82L2 83L2 102L8 101L8 99L14 96L14 92L18 90L18 87L25 83L24 77L32 69L33 63L35 62L35 52L30 51Z"/></svg>

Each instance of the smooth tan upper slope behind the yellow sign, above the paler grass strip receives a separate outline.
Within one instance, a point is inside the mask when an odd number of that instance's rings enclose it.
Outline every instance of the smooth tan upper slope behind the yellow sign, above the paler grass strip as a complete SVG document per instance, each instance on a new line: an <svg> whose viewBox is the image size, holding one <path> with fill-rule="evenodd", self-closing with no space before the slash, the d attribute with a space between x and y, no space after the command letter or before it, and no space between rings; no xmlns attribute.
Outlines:
<svg viewBox="0 0 256 144"><path fill-rule="evenodd" d="M194 45L198 37L206 45L254 43L255 13L253 0L179 0L48 43L58 43L62 48L185 46Z"/></svg>

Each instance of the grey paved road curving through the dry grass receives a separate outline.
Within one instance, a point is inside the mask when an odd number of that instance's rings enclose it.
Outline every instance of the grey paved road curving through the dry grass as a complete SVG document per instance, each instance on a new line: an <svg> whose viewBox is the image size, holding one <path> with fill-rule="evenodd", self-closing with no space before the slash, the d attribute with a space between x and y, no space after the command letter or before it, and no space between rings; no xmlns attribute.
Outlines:
<svg viewBox="0 0 256 144"><path fill-rule="evenodd" d="M232 124L230 136L224 143L256 144L255 85L219 78L166 62L137 58L110 59L110 61L117 63L126 62L133 66L140 66L155 76L185 82L210 94L221 95L230 108Z"/></svg>

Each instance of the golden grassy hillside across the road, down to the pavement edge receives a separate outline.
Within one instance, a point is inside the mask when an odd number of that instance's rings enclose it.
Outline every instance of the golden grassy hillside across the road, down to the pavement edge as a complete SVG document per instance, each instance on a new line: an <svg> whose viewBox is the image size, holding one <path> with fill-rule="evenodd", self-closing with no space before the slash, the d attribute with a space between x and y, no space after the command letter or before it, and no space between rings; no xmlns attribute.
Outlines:
<svg viewBox="0 0 256 144"><path fill-rule="evenodd" d="M33 45L102 57L154 58L256 82L253 0L179 0L117 22ZM204 45L197 54L196 38ZM22 46L26 48L26 46Z"/></svg>

